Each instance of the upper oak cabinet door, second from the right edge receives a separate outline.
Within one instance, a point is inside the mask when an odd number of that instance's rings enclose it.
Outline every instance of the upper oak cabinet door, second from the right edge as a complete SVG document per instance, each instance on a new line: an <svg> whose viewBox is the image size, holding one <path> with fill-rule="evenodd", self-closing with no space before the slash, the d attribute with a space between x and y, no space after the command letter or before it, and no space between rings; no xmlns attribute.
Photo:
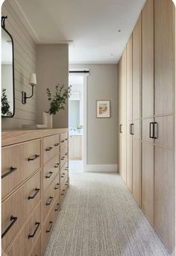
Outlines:
<svg viewBox="0 0 176 256"><path fill-rule="evenodd" d="M154 115L154 0L142 10L142 117Z"/></svg>

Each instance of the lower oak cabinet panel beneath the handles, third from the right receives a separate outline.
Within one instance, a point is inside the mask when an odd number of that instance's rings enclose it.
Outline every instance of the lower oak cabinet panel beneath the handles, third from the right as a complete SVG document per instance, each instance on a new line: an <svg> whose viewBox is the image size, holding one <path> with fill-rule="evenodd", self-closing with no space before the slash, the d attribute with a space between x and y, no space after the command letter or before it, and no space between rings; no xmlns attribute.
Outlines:
<svg viewBox="0 0 176 256"><path fill-rule="evenodd" d="M140 140L133 139L133 197L140 205Z"/></svg>

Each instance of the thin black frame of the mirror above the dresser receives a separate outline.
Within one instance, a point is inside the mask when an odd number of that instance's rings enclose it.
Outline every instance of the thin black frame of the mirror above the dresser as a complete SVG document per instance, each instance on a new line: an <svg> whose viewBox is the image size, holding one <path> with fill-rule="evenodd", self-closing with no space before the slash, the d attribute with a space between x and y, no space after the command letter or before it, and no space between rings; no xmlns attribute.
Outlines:
<svg viewBox="0 0 176 256"><path fill-rule="evenodd" d="M12 69L13 69L13 113L12 116L3 116L1 114L1 117L7 117L12 118L15 115L15 72L14 72L14 46L13 46L13 38L9 31L5 28L5 19L7 19L7 16L1 16L1 28L4 29L4 31L9 35L11 41L12 41Z"/></svg>

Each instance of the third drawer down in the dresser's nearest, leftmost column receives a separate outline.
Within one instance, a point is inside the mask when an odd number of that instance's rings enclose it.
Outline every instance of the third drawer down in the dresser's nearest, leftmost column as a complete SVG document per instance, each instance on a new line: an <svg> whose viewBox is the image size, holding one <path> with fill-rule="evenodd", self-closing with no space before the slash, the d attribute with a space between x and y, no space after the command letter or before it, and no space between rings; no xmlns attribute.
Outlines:
<svg viewBox="0 0 176 256"><path fill-rule="evenodd" d="M7 251L8 256L24 256L29 255L32 246L36 242L36 238L41 231L40 205L32 214L25 227L19 233L13 245ZM40 243L40 241L39 241ZM38 244L37 244L38 246ZM36 256L36 255L35 255ZM37 255L40 256L40 255Z"/></svg>

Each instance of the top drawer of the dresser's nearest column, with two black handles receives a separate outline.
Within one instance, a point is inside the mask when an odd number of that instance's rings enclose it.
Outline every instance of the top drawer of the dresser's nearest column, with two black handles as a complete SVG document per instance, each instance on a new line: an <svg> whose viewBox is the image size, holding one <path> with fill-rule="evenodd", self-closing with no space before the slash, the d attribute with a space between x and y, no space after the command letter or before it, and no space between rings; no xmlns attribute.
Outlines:
<svg viewBox="0 0 176 256"><path fill-rule="evenodd" d="M2 199L40 169L40 140L2 148Z"/></svg>

